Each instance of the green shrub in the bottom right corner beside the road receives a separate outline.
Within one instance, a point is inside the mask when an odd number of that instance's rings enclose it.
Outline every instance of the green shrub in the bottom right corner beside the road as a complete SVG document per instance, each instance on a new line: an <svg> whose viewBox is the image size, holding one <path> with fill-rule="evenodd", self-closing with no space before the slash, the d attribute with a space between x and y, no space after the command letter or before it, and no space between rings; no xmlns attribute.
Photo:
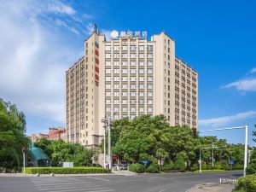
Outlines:
<svg viewBox="0 0 256 192"><path fill-rule="evenodd" d="M245 190L247 192L256 191L256 175L248 175L246 177L240 177L238 179L238 185L236 189Z"/></svg>

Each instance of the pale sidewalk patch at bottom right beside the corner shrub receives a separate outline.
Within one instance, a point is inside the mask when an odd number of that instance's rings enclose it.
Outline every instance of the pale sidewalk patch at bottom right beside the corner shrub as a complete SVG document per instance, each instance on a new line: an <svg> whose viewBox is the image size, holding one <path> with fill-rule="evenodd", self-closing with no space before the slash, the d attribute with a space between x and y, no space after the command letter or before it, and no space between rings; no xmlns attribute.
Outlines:
<svg viewBox="0 0 256 192"><path fill-rule="evenodd" d="M235 184L204 183L198 184L186 192L231 192L233 189L235 189Z"/></svg>

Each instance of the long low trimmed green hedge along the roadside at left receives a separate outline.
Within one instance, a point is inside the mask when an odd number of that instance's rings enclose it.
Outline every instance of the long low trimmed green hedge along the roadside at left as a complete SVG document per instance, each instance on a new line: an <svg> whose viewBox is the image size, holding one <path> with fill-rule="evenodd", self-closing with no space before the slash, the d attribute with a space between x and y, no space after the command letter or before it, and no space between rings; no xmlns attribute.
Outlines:
<svg viewBox="0 0 256 192"><path fill-rule="evenodd" d="M26 167L26 174L86 174L107 173L106 168L101 167Z"/></svg>

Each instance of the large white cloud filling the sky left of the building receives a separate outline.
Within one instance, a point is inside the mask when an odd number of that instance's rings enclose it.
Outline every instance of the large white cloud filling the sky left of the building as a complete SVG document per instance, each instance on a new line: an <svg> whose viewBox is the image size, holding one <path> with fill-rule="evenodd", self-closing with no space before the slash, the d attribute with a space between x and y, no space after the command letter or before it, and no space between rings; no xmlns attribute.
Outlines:
<svg viewBox="0 0 256 192"><path fill-rule="evenodd" d="M83 53L84 37L75 34L88 25L71 25L76 18L61 1L0 3L0 97L26 115L65 122L65 71Z"/></svg>

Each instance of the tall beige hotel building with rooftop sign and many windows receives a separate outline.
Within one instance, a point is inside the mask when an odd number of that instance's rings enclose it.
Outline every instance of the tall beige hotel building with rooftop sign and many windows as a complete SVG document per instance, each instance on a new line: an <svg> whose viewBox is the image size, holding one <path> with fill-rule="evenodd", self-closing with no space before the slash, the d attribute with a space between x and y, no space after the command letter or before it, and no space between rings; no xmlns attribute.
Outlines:
<svg viewBox="0 0 256 192"><path fill-rule="evenodd" d="M67 141L97 146L104 117L165 114L170 125L197 128L198 74L175 56L175 42L161 32L111 33L95 29L84 56L66 73Z"/></svg>

